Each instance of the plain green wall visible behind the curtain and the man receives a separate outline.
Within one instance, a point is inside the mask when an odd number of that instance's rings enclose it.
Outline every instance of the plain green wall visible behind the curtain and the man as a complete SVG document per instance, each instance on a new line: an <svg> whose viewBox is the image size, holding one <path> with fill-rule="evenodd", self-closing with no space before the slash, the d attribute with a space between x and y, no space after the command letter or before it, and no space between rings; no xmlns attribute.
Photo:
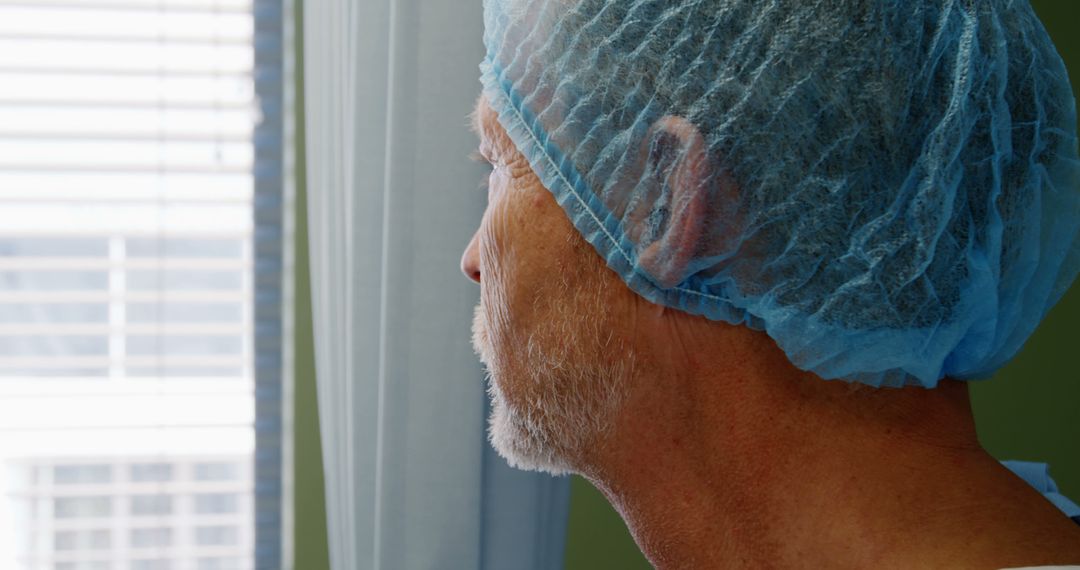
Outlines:
<svg viewBox="0 0 1080 570"><path fill-rule="evenodd" d="M302 10L297 0L297 53L302 53ZM1039 16L1072 70L1080 93L1080 3L1034 0ZM297 101L303 108L302 58L297 58ZM297 570L329 568L322 453L315 402L311 300L308 281L307 209L303 192L303 116L297 113L296 244L296 565ZM1080 323L1080 285L1074 286L995 379L972 388L983 445L1000 459L1044 461L1065 494L1080 498L1080 372L1070 366ZM573 477L566 568L634 570L650 568L625 525L588 481Z"/></svg>

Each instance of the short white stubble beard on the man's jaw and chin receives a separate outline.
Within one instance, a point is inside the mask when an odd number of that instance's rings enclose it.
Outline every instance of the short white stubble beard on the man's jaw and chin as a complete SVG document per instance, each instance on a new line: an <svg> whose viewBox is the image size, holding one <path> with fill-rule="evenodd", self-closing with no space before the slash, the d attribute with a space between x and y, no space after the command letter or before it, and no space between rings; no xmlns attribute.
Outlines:
<svg viewBox="0 0 1080 570"><path fill-rule="evenodd" d="M553 475L577 472L590 448L610 434L634 355L615 340L595 309L606 300L605 290L568 293L564 300L570 302L550 303L550 318L530 331L525 347L502 347L501 353L492 347L484 306L476 306L473 348L487 368L488 440L511 466ZM592 311L582 310L586 307ZM511 398L508 388L527 393Z"/></svg>

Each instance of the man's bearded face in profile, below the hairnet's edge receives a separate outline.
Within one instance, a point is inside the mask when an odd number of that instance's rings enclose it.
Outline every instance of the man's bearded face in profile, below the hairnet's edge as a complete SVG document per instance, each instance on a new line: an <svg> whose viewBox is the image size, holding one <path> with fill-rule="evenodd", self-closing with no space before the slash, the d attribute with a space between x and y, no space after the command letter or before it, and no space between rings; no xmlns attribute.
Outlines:
<svg viewBox="0 0 1080 570"><path fill-rule="evenodd" d="M489 437L511 464L564 473L611 426L634 367L637 302L577 233L483 98L488 206L461 259L481 285L473 345L488 368Z"/></svg>

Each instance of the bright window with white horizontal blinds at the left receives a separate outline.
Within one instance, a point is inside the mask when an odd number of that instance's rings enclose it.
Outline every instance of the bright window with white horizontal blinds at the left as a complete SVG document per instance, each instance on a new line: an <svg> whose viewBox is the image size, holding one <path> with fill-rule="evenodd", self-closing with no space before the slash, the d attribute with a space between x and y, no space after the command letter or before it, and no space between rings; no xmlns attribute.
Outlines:
<svg viewBox="0 0 1080 570"><path fill-rule="evenodd" d="M0 567L280 564L274 4L0 0Z"/></svg>

